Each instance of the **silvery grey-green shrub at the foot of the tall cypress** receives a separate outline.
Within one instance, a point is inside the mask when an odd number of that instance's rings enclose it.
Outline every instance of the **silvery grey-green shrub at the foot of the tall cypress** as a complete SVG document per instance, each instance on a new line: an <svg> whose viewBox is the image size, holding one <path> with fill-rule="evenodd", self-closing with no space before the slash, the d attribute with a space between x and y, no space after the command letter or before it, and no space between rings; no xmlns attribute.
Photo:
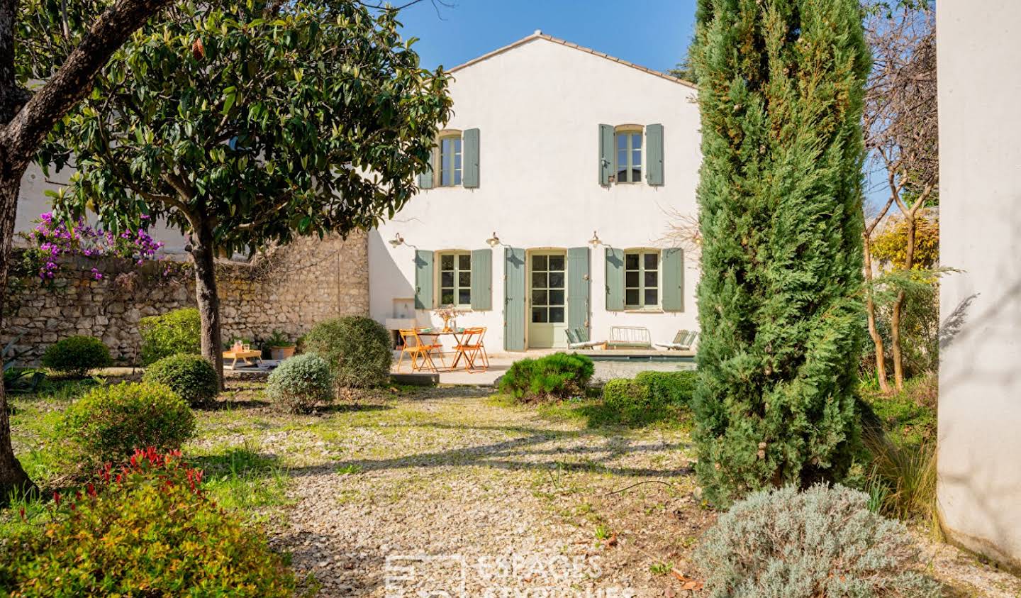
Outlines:
<svg viewBox="0 0 1021 598"><path fill-rule="evenodd" d="M703 537L695 561L715 598L938 596L914 570L903 523L866 508L842 486L789 486L734 504Z"/></svg>

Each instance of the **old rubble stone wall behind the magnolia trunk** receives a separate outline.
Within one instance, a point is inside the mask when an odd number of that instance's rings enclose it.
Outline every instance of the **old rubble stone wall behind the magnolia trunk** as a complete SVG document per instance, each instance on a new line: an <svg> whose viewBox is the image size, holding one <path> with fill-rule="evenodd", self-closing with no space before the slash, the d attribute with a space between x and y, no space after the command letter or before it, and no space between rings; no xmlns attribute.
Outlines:
<svg viewBox="0 0 1021 598"><path fill-rule="evenodd" d="M250 263L217 264L224 340L260 339L274 330L295 338L327 318L369 315L366 238L300 239ZM31 271L12 273L0 347L20 335L15 347L30 350L23 362L34 365L56 340L86 334L101 338L117 363L136 364L139 320L195 305L191 270L164 276L166 267L79 258L45 284Z"/></svg>

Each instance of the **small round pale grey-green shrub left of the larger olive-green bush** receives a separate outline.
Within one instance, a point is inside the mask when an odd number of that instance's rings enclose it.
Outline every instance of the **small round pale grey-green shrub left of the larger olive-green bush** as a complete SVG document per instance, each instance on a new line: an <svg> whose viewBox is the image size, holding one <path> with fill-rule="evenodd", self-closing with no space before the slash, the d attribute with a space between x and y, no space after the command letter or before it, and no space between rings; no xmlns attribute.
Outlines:
<svg viewBox="0 0 1021 598"><path fill-rule="evenodd" d="M330 365L314 353L286 359L270 374L265 395L285 411L308 413L333 399Z"/></svg>

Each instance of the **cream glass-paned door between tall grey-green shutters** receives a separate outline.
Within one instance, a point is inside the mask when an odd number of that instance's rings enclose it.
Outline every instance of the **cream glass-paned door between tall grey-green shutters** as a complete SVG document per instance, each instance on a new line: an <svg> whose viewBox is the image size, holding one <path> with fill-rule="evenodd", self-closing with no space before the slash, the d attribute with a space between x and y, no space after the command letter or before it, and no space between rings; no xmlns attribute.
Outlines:
<svg viewBox="0 0 1021 598"><path fill-rule="evenodd" d="M533 251L528 264L528 346L535 349L566 347L567 252Z"/></svg>

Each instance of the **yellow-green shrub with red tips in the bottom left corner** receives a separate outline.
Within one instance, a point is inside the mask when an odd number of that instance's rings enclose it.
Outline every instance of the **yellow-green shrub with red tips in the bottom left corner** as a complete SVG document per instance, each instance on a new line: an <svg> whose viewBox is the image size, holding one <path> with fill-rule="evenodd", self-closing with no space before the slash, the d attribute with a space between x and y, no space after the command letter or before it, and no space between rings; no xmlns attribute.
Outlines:
<svg viewBox="0 0 1021 598"><path fill-rule="evenodd" d="M294 573L203 493L180 454L137 452L98 487L55 501L54 516L0 548L13 596L285 597Z"/></svg>

